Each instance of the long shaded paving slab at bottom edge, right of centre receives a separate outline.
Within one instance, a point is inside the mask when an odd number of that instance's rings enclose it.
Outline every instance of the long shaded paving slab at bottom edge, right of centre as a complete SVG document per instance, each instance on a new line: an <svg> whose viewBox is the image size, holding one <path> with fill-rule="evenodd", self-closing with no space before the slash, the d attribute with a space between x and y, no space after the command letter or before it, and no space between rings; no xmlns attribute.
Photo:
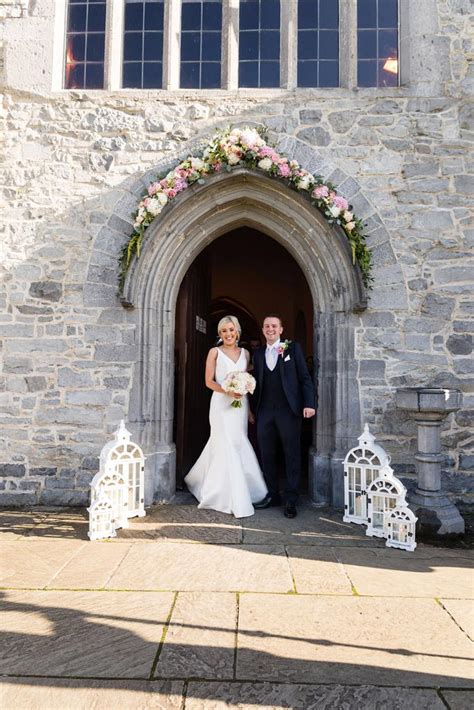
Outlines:
<svg viewBox="0 0 474 710"><path fill-rule="evenodd" d="M191 682L186 710L446 710L435 690L290 683Z"/></svg>

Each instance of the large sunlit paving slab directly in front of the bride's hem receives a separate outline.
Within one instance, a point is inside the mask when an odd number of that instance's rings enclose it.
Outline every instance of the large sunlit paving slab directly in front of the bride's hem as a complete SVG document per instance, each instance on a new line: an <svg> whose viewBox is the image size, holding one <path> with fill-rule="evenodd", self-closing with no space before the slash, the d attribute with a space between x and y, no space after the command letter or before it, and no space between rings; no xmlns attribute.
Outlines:
<svg viewBox="0 0 474 710"><path fill-rule="evenodd" d="M288 592L293 581L282 547L137 542L106 587Z"/></svg>

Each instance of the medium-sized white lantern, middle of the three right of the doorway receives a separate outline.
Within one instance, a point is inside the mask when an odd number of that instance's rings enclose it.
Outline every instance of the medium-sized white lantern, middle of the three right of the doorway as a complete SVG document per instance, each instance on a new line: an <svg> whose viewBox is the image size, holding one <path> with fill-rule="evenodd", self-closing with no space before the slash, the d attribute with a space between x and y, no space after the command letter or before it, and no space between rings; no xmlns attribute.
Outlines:
<svg viewBox="0 0 474 710"><path fill-rule="evenodd" d="M406 488L393 475L387 464L380 476L367 488L367 530L366 535L387 537L388 515L400 504L405 503Z"/></svg>

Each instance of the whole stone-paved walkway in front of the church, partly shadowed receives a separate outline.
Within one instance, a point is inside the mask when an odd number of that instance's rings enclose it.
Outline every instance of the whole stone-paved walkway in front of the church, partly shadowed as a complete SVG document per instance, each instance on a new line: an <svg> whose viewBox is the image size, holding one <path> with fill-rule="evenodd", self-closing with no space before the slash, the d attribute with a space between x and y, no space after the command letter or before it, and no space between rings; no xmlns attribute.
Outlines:
<svg viewBox="0 0 474 710"><path fill-rule="evenodd" d="M306 504L0 513L2 710L473 707L470 553Z"/></svg>

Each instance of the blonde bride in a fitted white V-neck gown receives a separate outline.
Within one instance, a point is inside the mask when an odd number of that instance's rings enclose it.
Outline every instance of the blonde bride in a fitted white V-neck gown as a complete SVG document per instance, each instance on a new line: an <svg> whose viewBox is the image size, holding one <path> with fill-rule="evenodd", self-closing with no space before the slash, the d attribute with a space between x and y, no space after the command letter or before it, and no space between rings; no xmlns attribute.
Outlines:
<svg viewBox="0 0 474 710"><path fill-rule="evenodd" d="M228 394L221 384L229 372L245 372L250 355L238 347L241 328L235 316L222 318L217 333L222 345L212 348L206 360L206 386L213 390L211 436L184 481L198 499L198 508L245 518L253 515L252 503L266 496L267 487L247 437L247 397ZM241 399L242 407L232 407L233 399Z"/></svg>

